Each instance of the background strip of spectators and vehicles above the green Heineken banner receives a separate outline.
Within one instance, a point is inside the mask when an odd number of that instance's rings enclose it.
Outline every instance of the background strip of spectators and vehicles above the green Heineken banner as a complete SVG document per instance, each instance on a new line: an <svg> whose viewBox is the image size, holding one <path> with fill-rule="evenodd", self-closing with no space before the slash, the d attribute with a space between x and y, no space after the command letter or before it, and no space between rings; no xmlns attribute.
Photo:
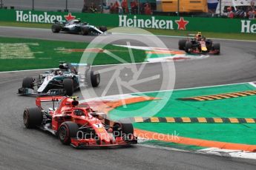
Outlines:
<svg viewBox="0 0 256 170"><path fill-rule="evenodd" d="M255 19L255 1L243 0L0 0L16 10L71 11L168 16L217 16Z"/></svg>

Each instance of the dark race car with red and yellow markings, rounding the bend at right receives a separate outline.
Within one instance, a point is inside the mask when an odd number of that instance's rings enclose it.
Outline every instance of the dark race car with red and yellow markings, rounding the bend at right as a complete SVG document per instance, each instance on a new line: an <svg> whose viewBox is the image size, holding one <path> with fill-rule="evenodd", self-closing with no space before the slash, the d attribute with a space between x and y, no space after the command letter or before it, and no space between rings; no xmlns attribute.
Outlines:
<svg viewBox="0 0 256 170"><path fill-rule="evenodd" d="M192 34L190 34L192 35ZM203 37L202 33L193 35L193 38L182 39L179 41L179 50L185 50L187 53L195 54L220 54L220 44L213 43L211 39Z"/></svg>

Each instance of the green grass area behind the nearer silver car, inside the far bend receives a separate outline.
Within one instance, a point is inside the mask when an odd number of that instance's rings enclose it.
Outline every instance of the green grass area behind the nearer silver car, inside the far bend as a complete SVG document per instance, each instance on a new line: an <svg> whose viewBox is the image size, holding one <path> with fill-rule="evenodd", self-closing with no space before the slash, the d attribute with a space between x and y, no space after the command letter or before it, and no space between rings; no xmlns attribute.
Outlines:
<svg viewBox="0 0 256 170"><path fill-rule="evenodd" d="M87 46L88 43L83 42L0 37L0 71L53 68L58 66L59 61L76 63L80 61ZM104 50L131 63L128 49L113 45L106 45L102 50L87 51L85 55L88 58L96 55L93 65L120 64L120 61L106 54ZM136 62L145 60L143 50L133 50L133 53Z"/></svg>

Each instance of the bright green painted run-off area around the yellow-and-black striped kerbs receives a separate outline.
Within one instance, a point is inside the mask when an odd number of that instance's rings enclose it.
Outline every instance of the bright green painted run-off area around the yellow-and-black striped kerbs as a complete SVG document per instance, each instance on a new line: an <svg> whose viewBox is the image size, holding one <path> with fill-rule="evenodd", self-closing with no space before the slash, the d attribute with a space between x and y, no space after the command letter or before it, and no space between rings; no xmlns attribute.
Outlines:
<svg viewBox="0 0 256 170"><path fill-rule="evenodd" d="M237 84L200 89L174 90L168 103L154 117L256 118L256 95L217 101L177 100L177 98L241 92L251 89L256 88L250 84ZM154 97L157 95L157 92L149 92L145 95ZM136 112L136 109L148 103L155 104L155 102L160 101L134 103L127 105L127 108L118 107L111 111L111 118L140 117L140 112ZM126 114L119 114L119 111L124 110L131 110L131 112L129 114L127 112ZM176 132L181 137L256 145L256 123L134 123L134 127L169 135Z"/></svg>

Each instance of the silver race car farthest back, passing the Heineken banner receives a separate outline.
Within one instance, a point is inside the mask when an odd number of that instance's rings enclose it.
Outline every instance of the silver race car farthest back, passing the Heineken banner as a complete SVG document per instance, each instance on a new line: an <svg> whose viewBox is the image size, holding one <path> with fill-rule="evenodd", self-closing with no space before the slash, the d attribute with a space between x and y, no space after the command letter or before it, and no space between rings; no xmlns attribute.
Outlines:
<svg viewBox="0 0 256 170"><path fill-rule="evenodd" d="M107 27L95 27L86 22L81 22L80 19L70 21L54 21L51 30L53 33L60 31L65 33L81 33L82 35L101 35L107 33Z"/></svg>

